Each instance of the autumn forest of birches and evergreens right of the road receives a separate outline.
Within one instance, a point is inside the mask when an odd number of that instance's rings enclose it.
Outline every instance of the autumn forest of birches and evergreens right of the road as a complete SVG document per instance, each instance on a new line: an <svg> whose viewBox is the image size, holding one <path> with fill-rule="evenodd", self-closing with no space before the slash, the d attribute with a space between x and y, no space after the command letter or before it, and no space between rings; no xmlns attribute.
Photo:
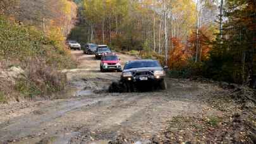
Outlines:
<svg viewBox="0 0 256 144"><path fill-rule="evenodd" d="M255 0L84 0L69 37L157 58L171 76L251 86ZM254 76L255 77L255 76Z"/></svg>

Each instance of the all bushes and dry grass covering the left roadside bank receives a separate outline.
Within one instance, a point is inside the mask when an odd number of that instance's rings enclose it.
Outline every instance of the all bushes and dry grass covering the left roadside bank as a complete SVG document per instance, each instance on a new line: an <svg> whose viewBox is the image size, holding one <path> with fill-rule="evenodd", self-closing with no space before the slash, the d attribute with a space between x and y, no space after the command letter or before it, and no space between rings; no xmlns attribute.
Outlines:
<svg viewBox="0 0 256 144"><path fill-rule="evenodd" d="M66 75L59 69L76 66L64 40L48 37L35 27L19 25L3 16L0 16L0 62L25 70L24 76L11 85L13 88L0 88L6 93L16 90L26 98L64 90ZM0 101L4 100L0 93Z"/></svg>

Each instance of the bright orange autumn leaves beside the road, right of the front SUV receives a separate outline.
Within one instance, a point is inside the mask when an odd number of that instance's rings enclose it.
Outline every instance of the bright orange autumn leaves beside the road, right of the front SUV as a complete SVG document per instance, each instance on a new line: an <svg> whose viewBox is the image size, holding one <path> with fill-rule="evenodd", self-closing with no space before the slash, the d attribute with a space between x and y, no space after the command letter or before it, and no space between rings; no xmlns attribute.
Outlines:
<svg viewBox="0 0 256 144"><path fill-rule="evenodd" d="M198 35L198 57L199 61L209 59L209 51L212 49L210 41L215 39L213 35L214 27L201 27ZM171 39L171 50L169 51L168 66L171 69L181 69L187 66L189 59L196 56L197 34L192 33L188 38L187 45L180 39L174 37Z"/></svg>

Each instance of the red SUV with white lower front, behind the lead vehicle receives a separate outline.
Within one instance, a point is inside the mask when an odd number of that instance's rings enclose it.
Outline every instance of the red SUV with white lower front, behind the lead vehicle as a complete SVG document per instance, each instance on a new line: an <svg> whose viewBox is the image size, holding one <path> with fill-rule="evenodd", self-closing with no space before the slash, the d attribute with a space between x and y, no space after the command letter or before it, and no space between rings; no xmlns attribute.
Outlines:
<svg viewBox="0 0 256 144"><path fill-rule="evenodd" d="M119 57L114 53L103 54L101 57L101 71L109 70L122 71Z"/></svg>

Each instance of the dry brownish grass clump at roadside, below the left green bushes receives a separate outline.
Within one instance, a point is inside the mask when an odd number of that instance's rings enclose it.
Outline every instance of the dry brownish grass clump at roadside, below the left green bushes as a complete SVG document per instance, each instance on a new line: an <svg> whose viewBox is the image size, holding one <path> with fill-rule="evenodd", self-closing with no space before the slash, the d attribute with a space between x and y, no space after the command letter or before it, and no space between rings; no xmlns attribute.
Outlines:
<svg viewBox="0 0 256 144"><path fill-rule="evenodd" d="M64 90L66 86L66 75L52 66L47 66L43 61L36 59L30 61L25 72L25 77L18 79L15 83L15 90L23 97L51 95Z"/></svg>

